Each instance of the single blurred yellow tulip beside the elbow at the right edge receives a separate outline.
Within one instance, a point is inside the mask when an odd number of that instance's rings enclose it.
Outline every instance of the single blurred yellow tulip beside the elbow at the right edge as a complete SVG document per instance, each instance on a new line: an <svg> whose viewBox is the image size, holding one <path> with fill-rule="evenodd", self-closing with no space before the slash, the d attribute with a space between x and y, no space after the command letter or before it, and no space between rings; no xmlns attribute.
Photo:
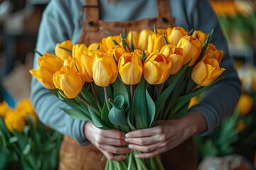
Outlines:
<svg viewBox="0 0 256 170"><path fill-rule="evenodd" d="M240 115L247 115L252 110L253 99L249 94L242 94L238 100L238 111Z"/></svg>

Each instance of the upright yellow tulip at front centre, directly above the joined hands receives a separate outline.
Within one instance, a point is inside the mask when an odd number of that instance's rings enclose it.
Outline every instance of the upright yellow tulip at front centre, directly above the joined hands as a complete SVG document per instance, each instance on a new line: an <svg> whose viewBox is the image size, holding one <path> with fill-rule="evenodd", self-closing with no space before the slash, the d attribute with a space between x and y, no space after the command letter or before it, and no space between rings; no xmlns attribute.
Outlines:
<svg viewBox="0 0 256 170"><path fill-rule="evenodd" d="M119 60L118 70L124 84L138 84L142 78L142 60L137 53L125 52Z"/></svg>

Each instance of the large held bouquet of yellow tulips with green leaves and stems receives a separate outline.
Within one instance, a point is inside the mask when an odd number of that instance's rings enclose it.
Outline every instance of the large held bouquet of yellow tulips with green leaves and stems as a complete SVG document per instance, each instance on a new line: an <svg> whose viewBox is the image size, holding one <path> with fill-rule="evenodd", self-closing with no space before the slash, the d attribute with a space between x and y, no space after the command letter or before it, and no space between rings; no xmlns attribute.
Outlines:
<svg viewBox="0 0 256 170"><path fill-rule="evenodd" d="M156 120L186 114L193 96L217 82L223 51L210 34L181 27L130 31L89 46L57 43L38 58L31 74L71 109L73 118L124 132L150 128ZM134 151L137 152L137 151ZM106 169L164 169L159 157L127 154Z"/></svg>

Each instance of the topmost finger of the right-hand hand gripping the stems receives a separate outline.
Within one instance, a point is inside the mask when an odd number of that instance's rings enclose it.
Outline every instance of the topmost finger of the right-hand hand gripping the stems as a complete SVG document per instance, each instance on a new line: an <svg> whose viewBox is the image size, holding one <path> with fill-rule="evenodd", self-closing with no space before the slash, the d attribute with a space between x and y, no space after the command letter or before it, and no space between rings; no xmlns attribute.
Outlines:
<svg viewBox="0 0 256 170"><path fill-rule="evenodd" d="M147 128L142 130L134 130L132 132L128 132L125 137L147 137L158 134L158 128Z"/></svg>

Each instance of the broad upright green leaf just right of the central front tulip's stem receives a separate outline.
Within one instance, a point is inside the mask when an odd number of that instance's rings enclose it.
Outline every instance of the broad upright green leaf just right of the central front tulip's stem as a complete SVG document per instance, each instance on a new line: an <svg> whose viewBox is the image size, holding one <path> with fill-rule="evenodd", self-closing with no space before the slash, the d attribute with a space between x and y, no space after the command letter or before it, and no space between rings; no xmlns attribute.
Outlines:
<svg viewBox="0 0 256 170"><path fill-rule="evenodd" d="M137 123L136 128L149 128L149 119L146 107L146 81L143 77L134 91L132 111L134 113L135 123Z"/></svg>

